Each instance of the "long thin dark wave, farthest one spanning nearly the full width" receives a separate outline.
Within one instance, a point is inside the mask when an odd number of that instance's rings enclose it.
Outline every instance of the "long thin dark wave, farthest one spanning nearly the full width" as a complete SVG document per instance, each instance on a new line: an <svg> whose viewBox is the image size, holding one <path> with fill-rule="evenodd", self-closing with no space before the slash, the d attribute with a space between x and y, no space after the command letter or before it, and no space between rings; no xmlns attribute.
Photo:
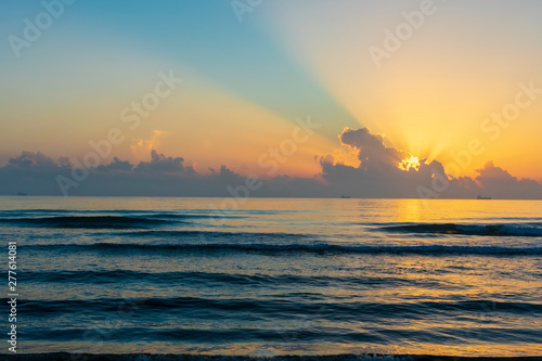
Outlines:
<svg viewBox="0 0 542 361"><path fill-rule="evenodd" d="M108 252L204 252L204 253L261 253L261 254L391 254L391 255L479 255L479 256L539 256L542 247L503 247L503 246L366 246L366 245L338 245L338 244L266 244L266 243L185 243L185 244L137 244L137 243L108 243L93 244L49 244L27 245L26 248L40 249L72 249L72 250L108 250Z"/></svg>

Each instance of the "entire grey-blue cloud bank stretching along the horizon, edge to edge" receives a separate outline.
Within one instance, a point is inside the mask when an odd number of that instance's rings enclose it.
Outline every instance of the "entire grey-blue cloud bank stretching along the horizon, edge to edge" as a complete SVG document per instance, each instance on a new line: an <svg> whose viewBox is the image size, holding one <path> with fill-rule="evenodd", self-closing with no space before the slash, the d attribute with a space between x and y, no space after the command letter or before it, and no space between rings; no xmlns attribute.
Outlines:
<svg viewBox="0 0 542 361"><path fill-rule="evenodd" d="M223 165L202 175L184 165L182 157L152 151L150 162L131 165L114 158L108 165L80 171L66 157L53 162L40 152L23 152L0 167L0 194L24 192L36 195L141 195L141 196L285 196L285 197L427 197L542 199L542 185L517 179L488 163L479 176L449 177L442 164L420 160L416 167L400 167L408 152L386 146L384 138L366 128L345 129L343 145L360 160L341 164L332 155L317 157L321 172L312 178L276 176L249 180ZM249 184L258 184L248 189Z"/></svg>

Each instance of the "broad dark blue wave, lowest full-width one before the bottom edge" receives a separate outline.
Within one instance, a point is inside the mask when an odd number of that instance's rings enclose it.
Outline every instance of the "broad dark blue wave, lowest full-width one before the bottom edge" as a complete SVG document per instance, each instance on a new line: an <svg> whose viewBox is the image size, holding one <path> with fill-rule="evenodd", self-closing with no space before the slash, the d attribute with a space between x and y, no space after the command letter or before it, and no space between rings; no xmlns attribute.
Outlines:
<svg viewBox="0 0 542 361"><path fill-rule="evenodd" d="M9 299L0 299L7 302ZM77 312L96 314L102 312L118 312L127 307L140 312L192 313L194 310L219 312L221 317L236 318L240 314L256 319L288 319L299 312L321 314L334 321L349 320L352 314L389 318L401 314L404 319L423 319L425 314L453 312L500 312L508 314L542 313L542 304L528 301L491 301L487 299L457 301L412 301L412 302L376 302L376 301L299 301L297 298L216 298L216 297L154 297L154 298L91 298L91 299L20 299L17 306L26 317L54 317L56 314ZM125 310L126 311L126 310Z"/></svg>

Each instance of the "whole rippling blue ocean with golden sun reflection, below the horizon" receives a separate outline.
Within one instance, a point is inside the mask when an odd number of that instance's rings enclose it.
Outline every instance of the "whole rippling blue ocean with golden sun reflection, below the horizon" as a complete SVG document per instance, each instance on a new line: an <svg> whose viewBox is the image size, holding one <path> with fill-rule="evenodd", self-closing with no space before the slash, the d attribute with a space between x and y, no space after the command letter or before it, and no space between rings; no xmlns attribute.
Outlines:
<svg viewBox="0 0 542 361"><path fill-rule="evenodd" d="M542 202L0 197L0 240L17 354L542 354Z"/></svg>

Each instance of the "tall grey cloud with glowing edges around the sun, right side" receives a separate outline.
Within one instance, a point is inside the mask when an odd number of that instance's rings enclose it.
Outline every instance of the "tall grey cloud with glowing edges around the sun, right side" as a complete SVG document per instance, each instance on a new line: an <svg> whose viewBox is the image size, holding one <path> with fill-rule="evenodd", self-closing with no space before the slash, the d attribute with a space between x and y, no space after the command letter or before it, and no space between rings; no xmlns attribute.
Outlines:
<svg viewBox="0 0 542 361"><path fill-rule="evenodd" d="M415 158L405 151L386 146L384 138L367 128L345 129L339 137L360 160L345 165L333 155L318 158L321 177L334 195L354 197L474 198L487 194L495 198L542 198L542 185L530 179L517 180L488 163L476 179L453 178L438 160ZM410 160L412 167L404 167ZM409 163L409 162L406 162Z"/></svg>

